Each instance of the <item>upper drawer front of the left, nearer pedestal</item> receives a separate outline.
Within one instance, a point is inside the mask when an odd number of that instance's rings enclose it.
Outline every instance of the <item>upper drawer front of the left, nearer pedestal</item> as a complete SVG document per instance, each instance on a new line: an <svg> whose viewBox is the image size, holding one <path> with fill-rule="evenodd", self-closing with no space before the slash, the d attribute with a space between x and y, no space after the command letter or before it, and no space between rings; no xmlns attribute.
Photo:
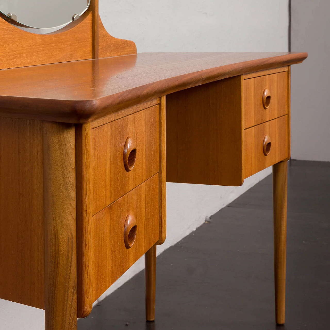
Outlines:
<svg viewBox="0 0 330 330"><path fill-rule="evenodd" d="M158 173L158 105L92 129L91 143L94 215Z"/></svg>

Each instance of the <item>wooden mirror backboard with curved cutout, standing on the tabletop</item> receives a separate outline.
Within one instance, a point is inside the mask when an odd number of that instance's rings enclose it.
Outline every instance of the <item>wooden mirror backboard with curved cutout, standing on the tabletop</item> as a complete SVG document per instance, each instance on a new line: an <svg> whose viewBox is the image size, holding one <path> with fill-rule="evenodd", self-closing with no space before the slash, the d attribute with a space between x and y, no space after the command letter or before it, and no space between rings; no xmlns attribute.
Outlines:
<svg viewBox="0 0 330 330"><path fill-rule="evenodd" d="M106 31L98 13L98 0L92 0L79 19L49 34L21 30L13 24L15 21L1 17L1 41L10 46L1 50L0 70L136 54L133 41L117 39Z"/></svg>

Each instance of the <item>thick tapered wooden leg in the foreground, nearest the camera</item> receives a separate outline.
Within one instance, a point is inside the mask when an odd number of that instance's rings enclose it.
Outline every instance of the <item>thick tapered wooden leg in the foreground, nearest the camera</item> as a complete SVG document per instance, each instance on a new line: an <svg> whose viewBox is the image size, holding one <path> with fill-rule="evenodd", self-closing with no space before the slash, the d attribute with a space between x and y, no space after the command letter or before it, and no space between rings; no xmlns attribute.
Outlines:
<svg viewBox="0 0 330 330"><path fill-rule="evenodd" d="M77 329L75 127L43 122L45 329Z"/></svg>

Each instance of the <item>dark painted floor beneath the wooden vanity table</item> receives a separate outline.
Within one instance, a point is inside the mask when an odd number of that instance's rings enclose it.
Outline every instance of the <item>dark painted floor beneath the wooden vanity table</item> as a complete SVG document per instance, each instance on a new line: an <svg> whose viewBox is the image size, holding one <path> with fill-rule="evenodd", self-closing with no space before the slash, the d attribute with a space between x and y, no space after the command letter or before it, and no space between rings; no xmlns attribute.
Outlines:
<svg viewBox="0 0 330 330"><path fill-rule="evenodd" d="M288 168L285 326L274 321L269 176L157 258L155 322L144 319L141 272L78 329L330 329L330 163Z"/></svg>

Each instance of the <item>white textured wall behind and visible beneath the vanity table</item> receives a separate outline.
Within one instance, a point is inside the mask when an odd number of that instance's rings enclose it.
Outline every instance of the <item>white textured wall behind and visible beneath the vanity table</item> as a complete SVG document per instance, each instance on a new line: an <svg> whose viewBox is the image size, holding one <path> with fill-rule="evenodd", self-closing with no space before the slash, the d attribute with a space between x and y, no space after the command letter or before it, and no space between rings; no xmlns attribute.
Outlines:
<svg viewBox="0 0 330 330"><path fill-rule="evenodd" d="M113 36L134 40L138 52L287 51L287 0L100 0L100 15ZM270 173L266 169L242 187L167 183L167 239L158 253ZM104 296L143 266L141 258ZM4 329L44 329L44 312L0 300Z"/></svg>

